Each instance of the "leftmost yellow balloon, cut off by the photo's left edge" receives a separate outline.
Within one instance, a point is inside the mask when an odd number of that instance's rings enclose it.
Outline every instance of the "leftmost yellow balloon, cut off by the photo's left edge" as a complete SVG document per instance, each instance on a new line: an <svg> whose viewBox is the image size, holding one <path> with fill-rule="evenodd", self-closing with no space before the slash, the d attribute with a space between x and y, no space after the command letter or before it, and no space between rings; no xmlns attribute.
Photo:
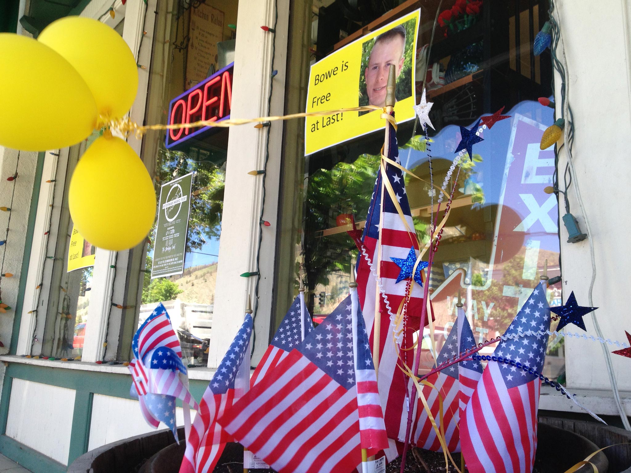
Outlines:
<svg viewBox="0 0 631 473"><path fill-rule="evenodd" d="M23 151L65 148L97 123L97 105L81 76L44 44L0 33L0 144Z"/></svg>

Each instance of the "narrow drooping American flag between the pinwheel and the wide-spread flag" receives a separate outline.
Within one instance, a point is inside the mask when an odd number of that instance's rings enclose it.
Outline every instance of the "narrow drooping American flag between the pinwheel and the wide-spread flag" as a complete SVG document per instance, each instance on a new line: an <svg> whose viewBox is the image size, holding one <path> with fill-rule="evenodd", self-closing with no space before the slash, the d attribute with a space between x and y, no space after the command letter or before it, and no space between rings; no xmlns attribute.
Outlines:
<svg viewBox="0 0 631 473"><path fill-rule="evenodd" d="M216 419L249 388L252 325L252 315L246 313L239 332L204 392L199 403L199 413L186 441L180 473L212 471L226 442L231 440Z"/></svg>

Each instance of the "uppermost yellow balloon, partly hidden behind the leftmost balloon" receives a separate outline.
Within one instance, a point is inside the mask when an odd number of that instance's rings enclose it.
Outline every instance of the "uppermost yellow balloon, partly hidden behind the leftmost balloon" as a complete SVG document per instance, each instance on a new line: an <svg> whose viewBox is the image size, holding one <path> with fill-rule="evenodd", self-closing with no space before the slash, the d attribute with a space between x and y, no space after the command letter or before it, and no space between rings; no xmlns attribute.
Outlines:
<svg viewBox="0 0 631 473"><path fill-rule="evenodd" d="M123 117L136 98L138 66L112 28L80 16L66 16L44 28L37 40L66 58L81 74L103 120Z"/></svg>

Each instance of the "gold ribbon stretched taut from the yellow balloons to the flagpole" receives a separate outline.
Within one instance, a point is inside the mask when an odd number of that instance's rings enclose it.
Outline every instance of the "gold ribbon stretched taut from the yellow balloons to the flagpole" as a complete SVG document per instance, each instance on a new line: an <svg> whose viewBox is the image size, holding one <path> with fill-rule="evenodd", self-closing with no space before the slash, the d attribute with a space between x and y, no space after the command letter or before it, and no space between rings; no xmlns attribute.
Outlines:
<svg viewBox="0 0 631 473"><path fill-rule="evenodd" d="M333 115L343 112L372 112L374 110L382 110L385 112L384 107L376 107L375 105L366 105L365 107L351 107L351 108L338 108L336 110L322 110L321 112L305 112L300 114L290 114L290 115L273 115L271 117L258 117L256 119L227 119L221 120L217 122L215 120L199 120L198 122L192 123L177 123L171 125L144 125L140 126L133 120L121 119L116 122L110 122L110 128L121 132L125 136L129 133L134 132L136 137L143 136L149 130L179 130L182 128L197 128L197 127L221 127L227 128L231 126L237 125L245 125L248 123L257 123L257 122L275 122L278 120L292 120L297 118L305 118L305 117L326 117L326 115ZM389 116L389 115L388 115ZM383 117L383 115L382 115ZM394 118L392 118L394 120ZM396 126L395 126L396 128Z"/></svg>

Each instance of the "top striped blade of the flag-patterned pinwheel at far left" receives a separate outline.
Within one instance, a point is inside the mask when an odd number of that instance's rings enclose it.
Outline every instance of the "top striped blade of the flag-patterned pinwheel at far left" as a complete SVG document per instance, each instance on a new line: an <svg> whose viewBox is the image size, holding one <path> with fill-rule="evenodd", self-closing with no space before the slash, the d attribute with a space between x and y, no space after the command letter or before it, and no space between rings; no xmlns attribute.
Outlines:
<svg viewBox="0 0 631 473"><path fill-rule="evenodd" d="M158 307L151 312L140 328L136 330L131 343L134 355L139 360L143 360L147 353L159 346L170 348L175 351L177 356L182 357L180 341L162 303L158 304Z"/></svg>

